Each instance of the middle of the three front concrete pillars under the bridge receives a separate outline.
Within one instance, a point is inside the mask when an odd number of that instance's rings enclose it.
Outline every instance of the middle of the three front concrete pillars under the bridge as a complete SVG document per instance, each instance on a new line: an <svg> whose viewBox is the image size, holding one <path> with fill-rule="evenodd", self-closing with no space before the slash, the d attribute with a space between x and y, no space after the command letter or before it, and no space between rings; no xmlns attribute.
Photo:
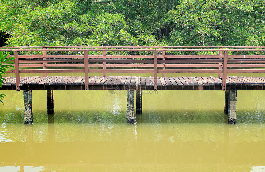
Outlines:
<svg viewBox="0 0 265 172"><path fill-rule="evenodd" d="M133 95L133 90L127 90L127 124L134 124L134 95Z"/></svg>

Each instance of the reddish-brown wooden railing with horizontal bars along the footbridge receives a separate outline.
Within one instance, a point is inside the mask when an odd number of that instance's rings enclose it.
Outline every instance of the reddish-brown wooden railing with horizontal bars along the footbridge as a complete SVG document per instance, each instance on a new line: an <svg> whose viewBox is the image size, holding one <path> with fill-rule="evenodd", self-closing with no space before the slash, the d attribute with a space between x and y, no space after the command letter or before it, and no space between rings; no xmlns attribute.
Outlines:
<svg viewBox="0 0 265 172"><path fill-rule="evenodd" d="M30 49L29 49L30 48ZM35 49L32 49L35 48ZM41 49L40 49L41 48ZM144 49L141 49L144 48ZM154 90L157 90L157 74L163 73L219 73L222 79L222 90L226 90L227 73L265 73L265 69L243 69L245 67L265 67L265 55L228 55L237 51L265 51L265 47L221 47L221 46L175 46L175 47L1 47L1 51L13 51L17 57L15 70L16 88L19 90L19 73L81 72L85 73L85 89L88 90L88 76L91 72L106 73L153 73ZM217 52L217 55L172 55L172 52ZM23 55L25 52L42 52L42 55ZM83 52L82 55L49 55L47 52ZM95 52L102 52L102 55ZM107 52L145 52L153 55L107 55ZM168 55L166 54L168 52ZM21 55L19 55L21 54ZM109 53L111 54L111 53ZM42 67L43 69L19 69L19 67ZM47 67L72 67L84 69L47 69ZM90 67L90 68L89 68ZM92 69L98 67L101 69ZM131 67L132 69L114 69ZM148 67L152 69L135 69ZM173 69L166 69L173 68ZM205 69L181 69L203 67ZM234 69L227 69L228 67ZM108 68L108 69L107 69ZM112 69L110 69L112 68ZM158 69L161 68L161 69ZM177 69L179 68L179 69ZM216 68L216 69L212 69Z"/></svg>

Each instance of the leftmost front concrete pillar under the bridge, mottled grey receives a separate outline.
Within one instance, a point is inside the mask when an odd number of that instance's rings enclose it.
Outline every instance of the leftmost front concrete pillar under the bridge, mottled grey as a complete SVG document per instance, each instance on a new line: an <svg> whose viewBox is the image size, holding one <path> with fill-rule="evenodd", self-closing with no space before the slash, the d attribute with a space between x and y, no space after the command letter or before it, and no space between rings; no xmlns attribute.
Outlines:
<svg viewBox="0 0 265 172"><path fill-rule="evenodd" d="M23 90L24 97L24 121L25 124L33 124L33 115L32 115L32 94L31 90Z"/></svg>

